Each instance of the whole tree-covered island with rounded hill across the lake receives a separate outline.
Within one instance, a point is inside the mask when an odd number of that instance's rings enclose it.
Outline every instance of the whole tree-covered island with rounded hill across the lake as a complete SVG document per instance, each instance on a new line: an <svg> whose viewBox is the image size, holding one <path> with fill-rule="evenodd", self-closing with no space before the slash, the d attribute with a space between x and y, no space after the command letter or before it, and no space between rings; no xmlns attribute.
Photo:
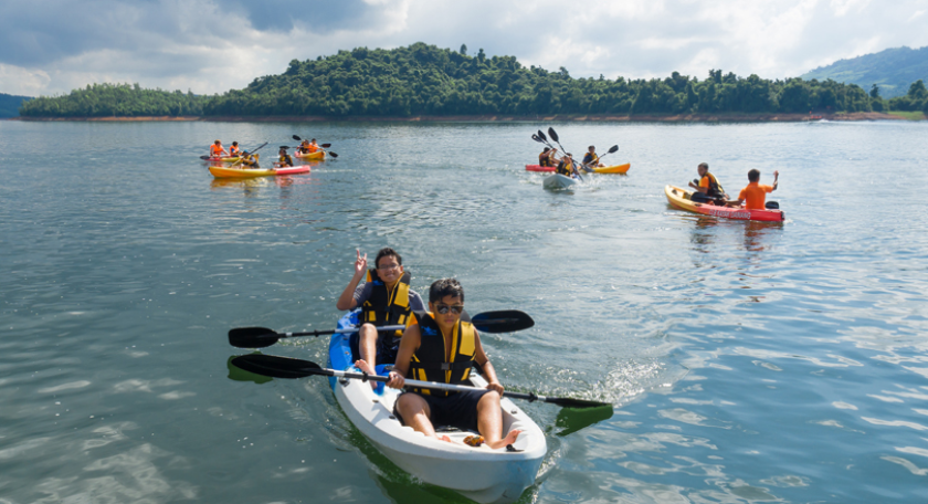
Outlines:
<svg viewBox="0 0 928 504"><path fill-rule="evenodd" d="M139 116L402 118L413 116L534 117L550 115L822 114L884 111L928 114L921 81L900 97L832 80L770 81L721 70L699 80L573 78L520 64L515 56L468 55L415 43L393 50L358 48L315 60L293 60L280 75L217 95L93 84L23 103L25 118Z"/></svg>

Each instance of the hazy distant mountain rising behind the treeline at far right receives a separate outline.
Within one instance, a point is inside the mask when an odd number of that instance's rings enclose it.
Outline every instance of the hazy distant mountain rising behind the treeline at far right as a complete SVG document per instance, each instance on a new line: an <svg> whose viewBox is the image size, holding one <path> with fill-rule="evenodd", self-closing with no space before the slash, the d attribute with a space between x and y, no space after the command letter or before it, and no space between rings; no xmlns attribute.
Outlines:
<svg viewBox="0 0 928 504"><path fill-rule="evenodd" d="M884 98L903 96L919 78L928 82L928 46L921 49L896 48L875 54L839 60L800 75L806 81L831 78L845 84L857 84L867 92L876 84Z"/></svg>

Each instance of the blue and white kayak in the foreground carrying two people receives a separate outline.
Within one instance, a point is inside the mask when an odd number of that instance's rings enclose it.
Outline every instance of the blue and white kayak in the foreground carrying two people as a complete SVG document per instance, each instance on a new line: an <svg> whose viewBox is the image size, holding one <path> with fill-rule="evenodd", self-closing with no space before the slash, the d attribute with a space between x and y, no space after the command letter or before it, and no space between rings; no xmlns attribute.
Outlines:
<svg viewBox="0 0 928 504"><path fill-rule="evenodd" d="M338 321L339 329L357 325L358 312ZM350 333L333 335L328 367L359 372L354 366L350 338ZM383 366L377 368L379 374L387 374ZM475 372L470 381L475 387L486 387L483 377ZM370 382L357 379L333 377L329 382L351 423L394 464L425 483L454 490L479 503L515 502L525 489L535 484L548 451L545 433L508 398L500 401L504 435L513 429L523 431L512 444L515 451L466 445L463 439L475 433L470 431L442 430L452 442L426 438L402 426L393 416L399 390L382 384L373 389Z"/></svg>

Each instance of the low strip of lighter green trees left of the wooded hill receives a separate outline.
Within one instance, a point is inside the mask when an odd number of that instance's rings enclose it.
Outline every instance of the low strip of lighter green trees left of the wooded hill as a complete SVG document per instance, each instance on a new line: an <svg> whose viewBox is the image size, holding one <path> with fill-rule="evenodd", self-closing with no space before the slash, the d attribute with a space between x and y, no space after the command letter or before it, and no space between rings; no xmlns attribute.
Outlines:
<svg viewBox="0 0 928 504"><path fill-rule="evenodd" d="M208 97L138 84L87 84L64 96L42 96L20 108L24 117L199 116Z"/></svg>

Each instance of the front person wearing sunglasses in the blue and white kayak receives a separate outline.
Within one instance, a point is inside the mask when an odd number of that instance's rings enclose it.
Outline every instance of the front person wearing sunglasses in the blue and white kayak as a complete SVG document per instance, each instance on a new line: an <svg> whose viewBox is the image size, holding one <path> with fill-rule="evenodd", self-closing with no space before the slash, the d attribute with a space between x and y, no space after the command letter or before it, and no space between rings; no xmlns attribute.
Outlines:
<svg viewBox="0 0 928 504"><path fill-rule="evenodd" d="M487 380L486 390L445 392L412 389L400 395L393 413L404 426L442 441L451 440L447 435L439 437L435 424L477 431L491 449L516 442L521 432L517 429L503 437L499 406L503 386L484 353L479 333L470 322L461 319L464 312L461 284L454 279L433 283L429 290L429 309L415 312L413 324L403 333L397 364L390 371L387 386L401 389L407 377L460 384L467 379L471 367L476 363Z"/></svg>

